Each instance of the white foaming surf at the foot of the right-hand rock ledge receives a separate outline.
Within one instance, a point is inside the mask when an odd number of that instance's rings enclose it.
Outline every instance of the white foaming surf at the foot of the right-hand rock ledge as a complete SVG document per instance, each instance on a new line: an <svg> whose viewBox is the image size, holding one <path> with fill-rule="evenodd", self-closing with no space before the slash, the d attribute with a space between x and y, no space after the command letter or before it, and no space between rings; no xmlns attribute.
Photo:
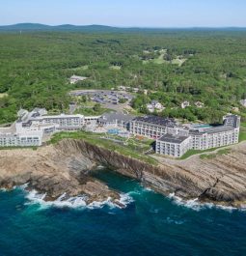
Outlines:
<svg viewBox="0 0 246 256"><path fill-rule="evenodd" d="M212 209L212 208L224 210L230 213L238 210L244 211L243 209L238 209L231 206L216 205L213 203L201 203L198 198L191 199L191 200L183 200L182 198L176 196L175 193L169 194L168 198L170 198L171 201L177 204L178 206L183 206L197 212L206 210L206 209Z"/></svg>

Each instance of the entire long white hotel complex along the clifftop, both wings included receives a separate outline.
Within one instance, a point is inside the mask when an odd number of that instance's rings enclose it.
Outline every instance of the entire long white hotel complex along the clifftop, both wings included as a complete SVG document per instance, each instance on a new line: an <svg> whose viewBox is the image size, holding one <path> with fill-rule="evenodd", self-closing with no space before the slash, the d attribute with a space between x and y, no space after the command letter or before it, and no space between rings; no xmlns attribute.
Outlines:
<svg viewBox="0 0 246 256"><path fill-rule="evenodd" d="M183 156L188 150L207 150L238 143L240 117L227 115L218 127L179 126L174 119L156 116L136 117L108 114L104 117L83 115L48 116L45 109L20 110L19 119L10 128L0 128L0 147L41 146L43 139L57 130L79 130L87 125L129 129L132 135L156 140L155 152L160 155Z"/></svg>

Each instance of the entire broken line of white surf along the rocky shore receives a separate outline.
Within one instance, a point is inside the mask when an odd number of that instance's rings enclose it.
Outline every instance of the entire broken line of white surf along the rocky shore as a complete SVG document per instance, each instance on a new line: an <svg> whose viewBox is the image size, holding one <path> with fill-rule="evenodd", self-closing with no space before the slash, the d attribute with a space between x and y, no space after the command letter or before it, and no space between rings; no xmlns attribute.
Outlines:
<svg viewBox="0 0 246 256"><path fill-rule="evenodd" d="M77 195L74 197L66 198L66 193L61 195L59 198L53 201L44 200L45 194L41 194L36 190L26 190L25 187L27 185L17 185L11 189L0 188L0 192L8 192L14 189L20 189L25 192L25 199L28 202L25 205L40 205L39 210L45 210L47 208L68 208L68 209L77 209L77 210L95 210L101 209L105 206L109 207L110 209L125 209L128 205L133 203L135 200L132 198L131 194L135 193L135 191L129 191L126 193L120 194L119 202L114 202L112 198L107 198L105 201L93 201L91 203L86 202L86 196L84 195ZM150 188L145 187L145 189L153 191ZM157 191L154 191L157 193ZM182 206L187 209L191 209L195 212L200 212L207 209L218 209L232 213L233 211L241 211L246 212L246 205L241 207L233 207L227 204L220 204L220 202L201 202L198 198L184 200L174 193L169 195L163 195L167 199L170 200L171 203L175 205Z"/></svg>

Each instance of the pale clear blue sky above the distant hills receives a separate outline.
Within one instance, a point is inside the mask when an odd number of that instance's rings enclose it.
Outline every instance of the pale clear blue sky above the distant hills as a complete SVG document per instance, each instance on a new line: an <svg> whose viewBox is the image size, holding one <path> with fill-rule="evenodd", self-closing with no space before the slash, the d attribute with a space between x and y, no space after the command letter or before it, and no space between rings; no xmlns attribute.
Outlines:
<svg viewBox="0 0 246 256"><path fill-rule="evenodd" d="M0 0L0 25L246 27L246 0Z"/></svg>

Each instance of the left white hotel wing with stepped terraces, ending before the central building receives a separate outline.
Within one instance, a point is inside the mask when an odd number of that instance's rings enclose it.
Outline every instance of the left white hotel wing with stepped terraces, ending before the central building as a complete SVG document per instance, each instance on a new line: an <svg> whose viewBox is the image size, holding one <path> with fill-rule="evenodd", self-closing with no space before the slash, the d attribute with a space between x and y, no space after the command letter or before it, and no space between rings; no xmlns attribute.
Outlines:
<svg viewBox="0 0 246 256"><path fill-rule="evenodd" d="M42 108L32 112L20 110L18 120L10 128L0 128L0 147L41 146L43 138L57 130L79 130L99 117L83 115L47 116Z"/></svg>

